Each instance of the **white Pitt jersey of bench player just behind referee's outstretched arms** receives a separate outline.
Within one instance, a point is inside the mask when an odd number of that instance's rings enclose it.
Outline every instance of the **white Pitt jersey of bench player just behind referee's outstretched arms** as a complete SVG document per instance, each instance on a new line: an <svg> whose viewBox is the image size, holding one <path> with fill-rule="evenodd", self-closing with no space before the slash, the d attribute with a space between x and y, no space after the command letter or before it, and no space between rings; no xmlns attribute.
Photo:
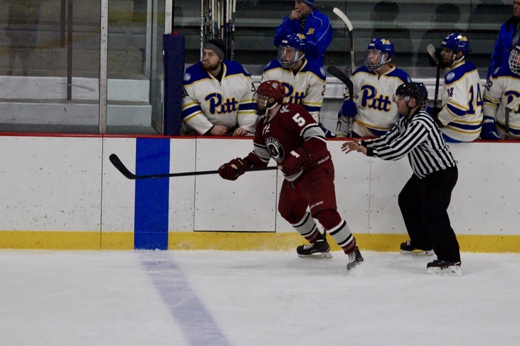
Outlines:
<svg viewBox="0 0 520 346"><path fill-rule="evenodd" d="M380 137L399 120L397 104L392 98L397 87L411 82L411 78L404 70L391 64L389 66L390 70L381 77L365 66L358 68L351 76L358 108L352 131L360 137ZM347 91L345 97L348 97ZM345 136L347 133L343 119L343 116L339 118L337 135Z"/></svg>

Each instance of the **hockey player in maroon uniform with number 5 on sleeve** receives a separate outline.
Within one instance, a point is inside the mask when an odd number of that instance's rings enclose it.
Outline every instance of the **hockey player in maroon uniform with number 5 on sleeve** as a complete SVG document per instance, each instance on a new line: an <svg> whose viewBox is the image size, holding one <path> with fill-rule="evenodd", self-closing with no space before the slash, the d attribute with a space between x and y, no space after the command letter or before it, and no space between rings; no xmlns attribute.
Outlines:
<svg viewBox="0 0 520 346"><path fill-rule="evenodd" d="M334 165L323 130L301 104L283 103L285 88L277 80L262 82L256 97L262 118L256 125L253 152L224 163L219 175L236 180L250 168L267 166L271 158L277 161L285 177L278 211L310 242L296 249L298 256L332 258L325 238L328 232L349 255L346 268L350 270L363 257L349 226L337 211ZM325 228L324 235L314 218Z"/></svg>

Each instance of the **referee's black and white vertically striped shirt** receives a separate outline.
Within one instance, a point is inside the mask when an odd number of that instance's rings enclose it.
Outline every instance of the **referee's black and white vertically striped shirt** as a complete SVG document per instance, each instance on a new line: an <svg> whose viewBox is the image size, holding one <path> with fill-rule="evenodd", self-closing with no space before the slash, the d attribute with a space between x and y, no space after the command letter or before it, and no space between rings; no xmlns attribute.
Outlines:
<svg viewBox="0 0 520 346"><path fill-rule="evenodd" d="M416 111L411 120L401 117L382 137L363 140L368 156L398 160L408 155L413 173L419 178L456 166L452 152L430 114Z"/></svg>

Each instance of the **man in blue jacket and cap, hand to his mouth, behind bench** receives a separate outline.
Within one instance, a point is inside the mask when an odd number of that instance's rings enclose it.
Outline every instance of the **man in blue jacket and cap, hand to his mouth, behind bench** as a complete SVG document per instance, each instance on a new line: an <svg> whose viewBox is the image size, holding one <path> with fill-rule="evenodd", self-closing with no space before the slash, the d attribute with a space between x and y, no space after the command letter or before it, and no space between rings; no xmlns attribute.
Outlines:
<svg viewBox="0 0 520 346"><path fill-rule="evenodd" d="M274 45L279 47L288 35L303 34L307 40L307 60L318 61L323 66L323 56L332 41L332 26L329 18L315 8L314 1L294 0L294 10L285 16L274 33Z"/></svg>

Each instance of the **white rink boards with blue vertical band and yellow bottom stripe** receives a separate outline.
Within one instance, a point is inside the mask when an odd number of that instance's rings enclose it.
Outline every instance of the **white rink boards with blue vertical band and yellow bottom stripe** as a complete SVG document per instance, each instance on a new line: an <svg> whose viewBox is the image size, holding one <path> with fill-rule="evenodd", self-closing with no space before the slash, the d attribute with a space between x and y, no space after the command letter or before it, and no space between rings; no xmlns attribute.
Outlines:
<svg viewBox="0 0 520 346"><path fill-rule="evenodd" d="M277 213L279 171L128 180L137 174L212 171L243 157L250 138L2 136L0 248L290 249L302 243ZM361 247L406 240L397 196L407 159L382 161L327 142L339 211ZM520 252L518 142L450 144L459 164L449 215L462 251ZM274 164L274 163L271 163ZM337 248L336 248L337 249Z"/></svg>

